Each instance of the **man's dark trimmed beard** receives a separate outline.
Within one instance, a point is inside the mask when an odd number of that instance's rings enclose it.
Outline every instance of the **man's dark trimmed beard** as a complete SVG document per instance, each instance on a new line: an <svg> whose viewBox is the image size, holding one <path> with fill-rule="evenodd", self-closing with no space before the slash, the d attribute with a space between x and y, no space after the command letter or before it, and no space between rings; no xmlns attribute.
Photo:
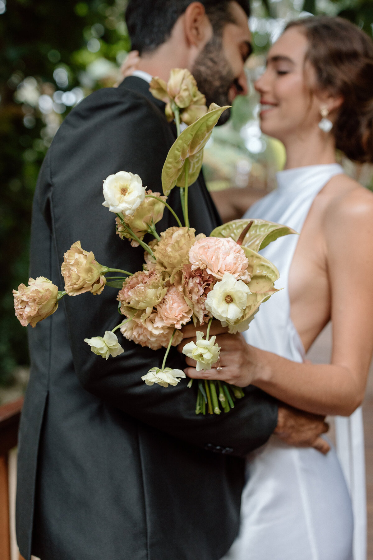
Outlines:
<svg viewBox="0 0 373 560"><path fill-rule="evenodd" d="M206 96L207 107L211 103L230 105L228 94L234 83L234 73L224 56L219 36L214 36L201 50L193 65L192 74L199 90ZM218 124L226 123L229 117L230 109L226 109Z"/></svg>

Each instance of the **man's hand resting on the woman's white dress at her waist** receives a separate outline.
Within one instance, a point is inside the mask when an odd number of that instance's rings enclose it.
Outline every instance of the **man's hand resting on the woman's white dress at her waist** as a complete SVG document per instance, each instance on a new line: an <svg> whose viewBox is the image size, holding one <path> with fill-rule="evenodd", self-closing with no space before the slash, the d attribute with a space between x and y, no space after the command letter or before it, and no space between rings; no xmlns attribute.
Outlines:
<svg viewBox="0 0 373 560"><path fill-rule="evenodd" d="M326 455L330 446L320 436L328 430L329 426L324 416L310 414L281 403L278 407L277 426L273 433L288 445L314 447Z"/></svg>

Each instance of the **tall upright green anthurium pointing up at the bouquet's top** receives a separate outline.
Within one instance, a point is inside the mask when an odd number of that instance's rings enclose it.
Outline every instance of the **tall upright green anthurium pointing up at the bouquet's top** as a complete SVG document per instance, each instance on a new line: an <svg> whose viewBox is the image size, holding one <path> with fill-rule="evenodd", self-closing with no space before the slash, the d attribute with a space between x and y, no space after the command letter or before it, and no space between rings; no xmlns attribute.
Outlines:
<svg viewBox="0 0 373 560"><path fill-rule="evenodd" d="M189 162L188 185L195 183L201 171L204 147L221 113L228 108L229 105L226 105L209 111L178 136L163 165L163 194L168 196L175 185L185 186L185 160L187 158Z"/></svg>

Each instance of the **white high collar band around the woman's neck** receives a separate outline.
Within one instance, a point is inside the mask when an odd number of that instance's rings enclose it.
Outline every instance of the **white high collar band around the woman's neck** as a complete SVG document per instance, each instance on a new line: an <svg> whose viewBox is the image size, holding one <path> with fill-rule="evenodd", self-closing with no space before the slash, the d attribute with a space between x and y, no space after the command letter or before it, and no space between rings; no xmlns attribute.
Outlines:
<svg viewBox="0 0 373 560"><path fill-rule="evenodd" d="M328 180L328 177L343 174L343 167L339 164L306 165L292 167L276 173L278 190L301 191L306 185L317 185L319 180ZM301 181L301 182L300 182Z"/></svg>

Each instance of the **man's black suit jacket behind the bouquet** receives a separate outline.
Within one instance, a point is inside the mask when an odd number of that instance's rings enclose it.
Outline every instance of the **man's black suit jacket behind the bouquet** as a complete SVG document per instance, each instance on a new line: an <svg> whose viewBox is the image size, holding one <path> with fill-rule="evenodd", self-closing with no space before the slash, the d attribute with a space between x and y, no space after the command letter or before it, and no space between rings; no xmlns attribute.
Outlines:
<svg viewBox="0 0 373 560"><path fill-rule="evenodd" d="M143 250L115 234L102 180L138 173L162 192L174 141L164 105L140 78L97 91L65 119L40 172L32 214L30 276L63 289L60 265L74 241L97 261L135 272ZM169 198L181 215L177 188ZM209 234L219 216L204 179L190 188L190 221ZM167 210L158 231L176 225ZM243 456L265 443L277 406L248 388L229 414L196 416L186 380L167 389L141 381L162 363L120 337L105 361L84 338L121 320L117 291L65 297L29 331L31 377L22 413L17 488L21 554L41 560L218 560L238 531ZM172 349L171 367L183 368ZM211 452L215 451L215 452Z"/></svg>

